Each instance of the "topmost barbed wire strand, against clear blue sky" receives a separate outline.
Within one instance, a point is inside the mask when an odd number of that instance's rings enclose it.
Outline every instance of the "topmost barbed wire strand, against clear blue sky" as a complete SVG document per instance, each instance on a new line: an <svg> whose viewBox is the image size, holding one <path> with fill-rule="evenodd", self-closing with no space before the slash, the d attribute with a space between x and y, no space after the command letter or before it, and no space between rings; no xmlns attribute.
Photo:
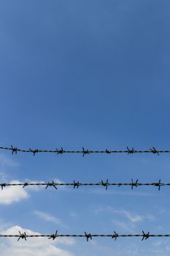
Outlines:
<svg viewBox="0 0 170 256"><path fill-rule="evenodd" d="M160 154L160 153L170 153L170 150L157 150L155 147L150 148L149 150L135 150L134 148L128 148L126 150L88 150L82 147L82 150L65 150L63 148L58 149L55 148L55 150L47 150L47 149L21 149L18 147L4 147L0 146L0 149L4 150L10 150L12 151L12 154L17 154L18 152L25 152L25 153L31 153L35 156L37 153L55 153L55 154L66 154L66 153L80 153L82 154L82 157L85 156L85 154L93 154L93 153L105 153L105 154L111 154L111 153L127 153L127 154L135 154L135 153L152 153L152 154Z"/></svg>

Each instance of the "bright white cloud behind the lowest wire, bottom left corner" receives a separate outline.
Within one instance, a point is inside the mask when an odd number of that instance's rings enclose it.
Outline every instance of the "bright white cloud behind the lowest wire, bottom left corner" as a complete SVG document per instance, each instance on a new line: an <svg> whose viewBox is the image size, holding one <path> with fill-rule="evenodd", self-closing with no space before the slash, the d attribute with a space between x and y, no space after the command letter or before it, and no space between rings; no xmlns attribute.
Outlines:
<svg viewBox="0 0 170 256"><path fill-rule="evenodd" d="M16 235L19 230L20 233L26 232L27 235L39 235L39 233L23 229L19 226L10 227L7 230L1 231L1 233ZM64 238L62 240L64 240ZM1 256L74 256L71 252L56 246L59 242L59 238L54 241L47 238L27 238L27 241L24 239L17 241L17 238L4 238L2 241L3 242L0 244Z"/></svg>

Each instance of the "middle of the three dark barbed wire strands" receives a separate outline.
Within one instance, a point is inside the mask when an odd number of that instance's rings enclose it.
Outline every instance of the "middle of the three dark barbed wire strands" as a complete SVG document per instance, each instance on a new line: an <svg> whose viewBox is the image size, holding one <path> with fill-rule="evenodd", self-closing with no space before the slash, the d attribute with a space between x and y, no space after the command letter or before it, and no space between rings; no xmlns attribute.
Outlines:
<svg viewBox="0 0 170 256"><path fill-rule="evenodd" d="M1 190L4 189L4 187L9 187L9 186L22 186L23 188L28 187L28 186L45 186L45 189L48 187L54 187L55 189L58 189L56 186L72 186L74 189L79 188L81 186L103 186L108 189L109 186L115 186L115 187L121 187L121 186L130 186L131 189L134 189L134 187L139 187L139 186L153 186L153 187L158 187L158 190L161 189L162 186L170 186L170 183L162 183L161 178L159 179L158 182L152 182L152 183L139 183L138 179L136 181L131 178L130 183L110 183L108 178L107 181L101 180L101 182L98 183L80 183L79 181L73 181L72 183L58 183L58 182L24 182L24 183L0 183Z"/></svg>

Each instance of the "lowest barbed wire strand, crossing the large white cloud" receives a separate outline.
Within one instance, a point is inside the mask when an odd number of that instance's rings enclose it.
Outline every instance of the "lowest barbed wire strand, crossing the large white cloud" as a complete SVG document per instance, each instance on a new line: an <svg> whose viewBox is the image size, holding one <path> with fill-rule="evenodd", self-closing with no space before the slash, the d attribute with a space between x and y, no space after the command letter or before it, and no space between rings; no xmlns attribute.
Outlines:
<svg viewBox="0 0 170 256"><path fill-rule="evenodd" d="M55 238L58 237L73 237L73 238L78 238L78 237L82 237L82 238L86 238L86 241L92 240L93 237L108 237L108 238L114 238L115 241L117 240L117 238L127 238L127 237L142 237L142 241L146 240L147 238L150 237L170 237L170 234L150 234L150 232L144 233L144 231L142 230L142 234L123 234L123 235L119 235L118 233L116 233L114 231L114 233L109 234L109 235L100 235L100 234L91 234L91 233L86 233L83 235L63 235L63 234L58 234L58 230L56 230L55 233L50 234L50 235L45 235L45 234L34 234L34 235L28 235L26 234L26 232L21 233L20 231L18 231L18 235L1 235L0 234L0 238L18 238L18 241L20 241L20 239L24 239L25 241L27 241L27 238L48 238L48 239L53 239L55 240Z"/></svg>

